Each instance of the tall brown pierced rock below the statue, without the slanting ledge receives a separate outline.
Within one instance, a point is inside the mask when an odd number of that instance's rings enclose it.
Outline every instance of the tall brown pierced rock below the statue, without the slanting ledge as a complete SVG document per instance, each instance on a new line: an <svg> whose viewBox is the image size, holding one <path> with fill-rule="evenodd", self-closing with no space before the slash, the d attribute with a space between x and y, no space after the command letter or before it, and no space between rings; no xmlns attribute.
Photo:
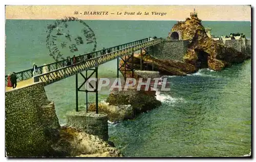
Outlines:
<svg viewBox="0 0 256 162"><path fill-rule="evenodd" d="M241 63L250 58L246 53L209 38L201 20L196 16L179 21L171 30L176 31L182 33L182 39L189 40L190 43L183 61L197 68L221 70L231 63Z"/></svg>

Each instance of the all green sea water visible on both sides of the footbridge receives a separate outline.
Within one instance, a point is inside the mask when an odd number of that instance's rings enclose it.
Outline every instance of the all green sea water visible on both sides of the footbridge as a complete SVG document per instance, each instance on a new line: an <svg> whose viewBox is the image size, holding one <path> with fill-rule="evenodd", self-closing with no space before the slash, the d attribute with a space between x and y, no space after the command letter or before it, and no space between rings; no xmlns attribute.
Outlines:
<svg viewBox="0 0 256 162"><path fill-rule="evenodd" d="M46 47L47 25L54 20L6 20L6 72L54 62ZM97 50L148 36L165 38L177 21L86 21ZM250 22L203 21L212 35L244 33ZM235 28L234 28L235 27ZM75 29L75 27L74 27ZM71 29L72 30L72 29ZM73 55L71 53L70 55ZM116 60L99 67L99 77L116 76ZM202 69L168 77L172 89L158 94L162 106L134 120L109 127L110 140L125 156L240 156L251 146L251 61L220 72ZM82 78L79 77L79 84ZM75 77L45 87L60 124L75 109ZM99 93L104 100L109 91ZM94 101L94 94L89 100ZM79 92L79 103L85 94Z"/></svg>

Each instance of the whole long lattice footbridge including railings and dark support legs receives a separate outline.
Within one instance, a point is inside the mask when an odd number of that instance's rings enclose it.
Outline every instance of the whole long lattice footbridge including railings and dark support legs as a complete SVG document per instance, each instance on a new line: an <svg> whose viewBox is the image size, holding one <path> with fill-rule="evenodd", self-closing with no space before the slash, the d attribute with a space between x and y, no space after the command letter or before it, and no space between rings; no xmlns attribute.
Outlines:
<svg viewBox="0 0 256 162"><path fill-rule="evenodd" d="M44 66L39 66L37 68L36 75L33 76L33 68L16 72L17 76L17 88L22 88L37 82L44 83L45 86L58 82L59 80L65 79L72 75L76 75L76 111L78 111L78 91L86 92L86 100L88 101L88 92L96 93L96 113L98 113L98 83L96 82L96 87L94 91L81 90L81 87L87 82L87 80L95 74L96 78L98 78L98 66L104 64L106 62L117 59L117 77L119 73L119 58L131 55L130 58L133 59L133 54L135 51L144 50L148 53L149 48L158 43L162 42L162 38L157 38L153 40L149 40L148 38L144 38L141 40L121 44L118 46L106 48L111 49L111 52L102 55L101 50L86 53L84 55L76 56L77 63L66 66L67 60L61 60L58 62L50 63ZM90 56L88 59L88 56ZM129 58L129 59L130 59ZM122 59L122 58L121 58ZM128 59L128 60L129 60ZM123 60L124 64L127 62ZM47 72L44 70L47 69ZM93 70L93 73L90 76L87 76L87 71ZM86 76L84 76L81 72L86 71ZM133 69L132 69L133 71ZM84 82L82 85L78 87L78 74L80 74L84 78ZM7 87L8 76L5 76L6 80L6 91L12 90L11 87ZM86 101L86 102L87 102ZM87 102L88 104L88 102ZM87 105L88 107L88 105Z"/></svg>

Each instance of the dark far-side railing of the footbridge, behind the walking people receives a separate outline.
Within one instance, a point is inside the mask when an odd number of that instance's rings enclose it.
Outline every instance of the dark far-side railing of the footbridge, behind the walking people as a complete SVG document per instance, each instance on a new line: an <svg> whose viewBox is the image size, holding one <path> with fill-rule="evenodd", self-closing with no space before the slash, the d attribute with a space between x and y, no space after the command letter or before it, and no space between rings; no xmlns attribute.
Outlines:
<svg viewBox="0 0 256 162"><path fill-rule="evenodd" d="M129 46L132 46L132 45L143 43L146 41L148 41L148 38L144 38L144 39L136 40L133 42L117 45L114 47L106 48L105 50L107 51L108 49L111 49L111 51L116 51L116 50L123 49L123 48L129 47ZM80 62L80 61L82 62L82 61L88 60L88 56L91 56L92 58L98 57L102 54L101 51L102 50L98 50L95 52L90 52L90 53L86 53L84 55L76 56L77 62ZM40 75L40 74L44 73L44 68L46 69L46 71L53 71L53 70L56 70L56 69L59 69L62 67L66 67L66 65L67 65L67 59L53 62L53 63L47 64L47 65L38 66L37 72L35 73L35 75ZM33 77L33 68L16 72L16 76L17 76L17 82L29 79L29 78ZM5 83L7 85L8 75L5 75Z"/></svg>

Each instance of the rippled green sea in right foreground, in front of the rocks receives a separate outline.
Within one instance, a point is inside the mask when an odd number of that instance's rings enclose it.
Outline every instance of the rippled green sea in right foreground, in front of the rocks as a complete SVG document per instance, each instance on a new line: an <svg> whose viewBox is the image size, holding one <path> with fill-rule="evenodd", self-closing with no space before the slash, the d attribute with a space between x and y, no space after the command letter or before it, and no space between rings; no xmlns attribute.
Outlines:
<svg viewBox="0 0 256 162"><path fill-rule="evenodd" d="M110 127L125 156L242 156L251 147L251 61L169 77L162 105Z"/></svg>

